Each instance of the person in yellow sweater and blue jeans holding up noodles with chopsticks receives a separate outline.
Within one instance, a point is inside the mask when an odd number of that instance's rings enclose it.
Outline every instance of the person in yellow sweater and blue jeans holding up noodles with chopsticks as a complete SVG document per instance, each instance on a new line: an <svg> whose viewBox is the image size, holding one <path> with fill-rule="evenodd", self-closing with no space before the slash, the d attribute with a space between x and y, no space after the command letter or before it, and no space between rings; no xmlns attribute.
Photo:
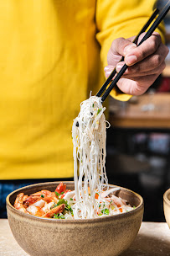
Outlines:
<svg viewBox="0 0 170 256"><path fill-rule="evenodd" d="M26 184L73 179L71 126L125 56L111 96L144 93L165 67L163 25L137 47L133 35L155 0L0 1L0 212ZM107 56L108 53L108 56ZM108 58L108 60L107 60ZM108 63L107 63L108 61Z"/></svg>

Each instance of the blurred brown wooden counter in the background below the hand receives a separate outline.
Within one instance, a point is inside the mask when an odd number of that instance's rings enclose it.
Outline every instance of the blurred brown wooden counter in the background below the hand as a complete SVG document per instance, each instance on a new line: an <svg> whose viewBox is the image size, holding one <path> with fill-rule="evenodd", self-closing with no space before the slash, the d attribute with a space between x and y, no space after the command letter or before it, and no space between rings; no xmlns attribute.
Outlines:
<svg viewBox="0 0 170 256"><path fill-rule="evenodd" d="M148 104L155 109L143 111ZM136 104L124 103L121 108L116 108L116 102L111 100L109 110L113 127L170 129L170 93L144 94L137 97Z"/></svg>

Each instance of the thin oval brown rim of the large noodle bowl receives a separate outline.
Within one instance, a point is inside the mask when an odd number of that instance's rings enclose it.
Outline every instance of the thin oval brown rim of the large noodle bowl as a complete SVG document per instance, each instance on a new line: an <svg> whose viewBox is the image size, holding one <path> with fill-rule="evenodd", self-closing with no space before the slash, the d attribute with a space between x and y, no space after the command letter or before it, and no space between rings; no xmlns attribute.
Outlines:
<svg viewBox="0 0 170 256"><path fill-rule="evenodd" d="M20 189L13 190L13 192L11 192L6 198L7 206L10 208L11 211L18 214L18 216L23 216L23 217L28 218L28 219L34 219L36 221L44 221L44 222L54 221L54 223L56 222L56 223L63 223L63 224L64 223L70 223L70 224L74 224L74 223L80 223L80 224L81 223L96 223L96 222L106 222L106 221L111 221L111 220L113 221L113 219L116 220L116 219L124 218L125 216L133 216L137 213L137 211L141 211L142 208L144 208L144 202L143 202L143 198L142 198L141 195L138 195L136 192L132 191L131 189L126 189L126 188L123 188L121 186L117 186L117 185L114 185L114 184L109 184L109 186L118 187L118 188L121 188L121 189L124 189L126 191L131 192L133 195L137 196L137 198L140 200L140 204L135 209L133 209L132 211L123 212L123 213L120 213L120 214L114 215L114 216L103 216L103 217L100 217L100 218L83 219L83 220L82 219L80 219L80 220L62 220L62 219L50 219L50 218L28 215L27 213L24 213L22 211L18 211L17 209L15 209L9 201L10 196L12 196L16 192L19 193L23 189L28 189L30 187L32 188L32 187L41 186L41 185L54 184L54 183L59 184L60 182L64 182L65 184L74 184L74 181L54 181L54 182L45 182L45 183L39 183L39 184L31 184L31 185L22 187Z"/></svg>

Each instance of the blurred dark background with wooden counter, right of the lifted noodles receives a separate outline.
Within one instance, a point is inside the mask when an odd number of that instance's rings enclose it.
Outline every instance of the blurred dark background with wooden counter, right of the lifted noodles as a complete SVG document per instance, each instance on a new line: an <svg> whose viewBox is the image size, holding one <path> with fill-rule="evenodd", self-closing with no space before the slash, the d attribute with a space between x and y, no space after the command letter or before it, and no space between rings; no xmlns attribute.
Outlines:
<svg viewBox="0 0 170 256"><path fill-rule="evenodd" d="M162 8L166 0L157 2ZM170 13L164 20L170 49ZM129 102L110 98L106 170L110 184L142 195L143 221L165 221L162 195L170 188L170 53L162 76Z"/></svg>

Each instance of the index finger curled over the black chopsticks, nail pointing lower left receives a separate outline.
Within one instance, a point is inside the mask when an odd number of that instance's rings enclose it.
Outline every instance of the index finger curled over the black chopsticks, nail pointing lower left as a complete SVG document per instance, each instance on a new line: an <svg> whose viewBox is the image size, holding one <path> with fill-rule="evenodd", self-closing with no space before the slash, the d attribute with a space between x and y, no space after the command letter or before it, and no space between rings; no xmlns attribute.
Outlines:
<svg viewBox="0 0 170 256"><path fill-rule="evenodd" d="M142 61L147 56L152 55L155 51L157 51L157 48L159 45L161 45L161 43L161 36L157 32L154 32L147 40L142 43L142 45L131 49L131 51L125 52L126 65L131 66L139 61Z"/></svg>

